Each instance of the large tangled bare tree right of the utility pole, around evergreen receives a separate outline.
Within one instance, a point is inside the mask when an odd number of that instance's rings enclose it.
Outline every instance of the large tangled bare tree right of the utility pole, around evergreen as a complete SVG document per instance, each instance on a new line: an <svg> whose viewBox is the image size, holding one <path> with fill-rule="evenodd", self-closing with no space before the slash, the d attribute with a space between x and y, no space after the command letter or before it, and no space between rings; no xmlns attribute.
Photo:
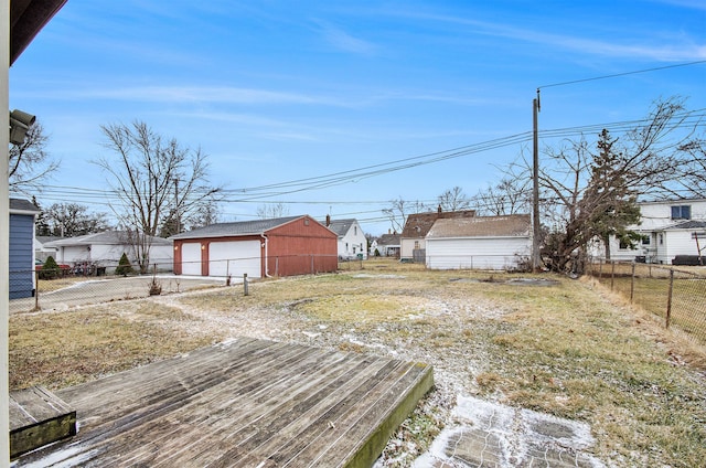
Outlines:
<svg viewBox="0 0 706 468"><path fill-rule="evenodd" d="M538 179L548 206L545 253L553 269L566 270L597 237L635 238L625 227L639 220L637 196L664 191L676 178L675 150L691 135L683 109L680 99L657 102L645 124L620 142L603 130L596 153L585 138L546 150Z"/></svg>

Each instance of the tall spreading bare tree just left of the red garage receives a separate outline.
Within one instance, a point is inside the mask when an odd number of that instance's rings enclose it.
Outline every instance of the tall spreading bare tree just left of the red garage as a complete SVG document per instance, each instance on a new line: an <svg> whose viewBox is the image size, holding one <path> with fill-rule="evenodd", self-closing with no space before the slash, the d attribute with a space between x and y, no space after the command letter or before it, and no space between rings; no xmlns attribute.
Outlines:
<svg viewBox="0 0 706 468"><path fill-rule="evenodd" d="M163 138L147 124L108 125L100 129L105 147L115 158L94 161L106 172L116 193L110 208L128 232L142 273L149 266L152 237L175 210L176 222L186 219L221 192L208 184L206 155Z"/></svg>

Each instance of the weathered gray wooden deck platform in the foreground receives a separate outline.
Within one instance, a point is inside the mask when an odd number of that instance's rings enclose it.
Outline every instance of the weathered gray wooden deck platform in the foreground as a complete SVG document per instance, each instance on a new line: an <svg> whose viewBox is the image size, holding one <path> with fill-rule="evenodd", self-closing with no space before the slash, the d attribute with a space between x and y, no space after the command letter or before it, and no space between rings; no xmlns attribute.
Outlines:
<svg viewBox="0 0 706 468"><path fill-rule="evenodd" d="M55 392L79 432L18 466L370 467L431 368L237 339Z"/></svg>

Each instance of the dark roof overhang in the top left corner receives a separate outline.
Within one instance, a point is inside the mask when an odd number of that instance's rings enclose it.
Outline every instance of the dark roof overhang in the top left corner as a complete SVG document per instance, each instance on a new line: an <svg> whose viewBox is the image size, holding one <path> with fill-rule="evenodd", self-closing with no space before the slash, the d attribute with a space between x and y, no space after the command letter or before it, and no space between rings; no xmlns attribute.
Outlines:
<svg viewBox="0 0 706 468"><path fill-rule="evenodd" d="M67 0L10 1L10 65Z"/></svg>

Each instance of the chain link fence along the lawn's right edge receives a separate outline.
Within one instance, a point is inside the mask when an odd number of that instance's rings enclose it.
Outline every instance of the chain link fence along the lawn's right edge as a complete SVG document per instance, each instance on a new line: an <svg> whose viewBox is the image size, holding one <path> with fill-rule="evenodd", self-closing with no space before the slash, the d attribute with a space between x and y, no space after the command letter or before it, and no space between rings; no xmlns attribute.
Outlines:
<svg viewBox="0 0 706 468"><path fill-rule="evenodd" d="M586 273L706 344L706 268L595 260Z"/></svg>

